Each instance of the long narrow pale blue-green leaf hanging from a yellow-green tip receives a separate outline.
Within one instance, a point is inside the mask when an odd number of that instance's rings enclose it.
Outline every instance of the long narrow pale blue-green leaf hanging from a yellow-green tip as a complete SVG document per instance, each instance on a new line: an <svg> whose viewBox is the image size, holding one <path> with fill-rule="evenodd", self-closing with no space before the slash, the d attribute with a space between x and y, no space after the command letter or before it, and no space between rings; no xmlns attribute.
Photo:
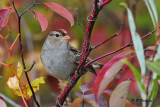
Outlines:
<svg viewBox="0 0 160 107"><path fill-rule="evenodd" d="M126 3L121 3L121 5L124 6L128 12L128 23L129 23L129 27L130 27L130 31L131 31L131 36L132 36L134 48L136 51L136 55L138 58L138 62L141 67L141 74L143 76L143 75L145 75L145 72L146 72L146 66L145 66L145 56L144 56L142 40L141 40L139 34L136 32L136 26L135 26L132 12L127 7Z"/></svg>

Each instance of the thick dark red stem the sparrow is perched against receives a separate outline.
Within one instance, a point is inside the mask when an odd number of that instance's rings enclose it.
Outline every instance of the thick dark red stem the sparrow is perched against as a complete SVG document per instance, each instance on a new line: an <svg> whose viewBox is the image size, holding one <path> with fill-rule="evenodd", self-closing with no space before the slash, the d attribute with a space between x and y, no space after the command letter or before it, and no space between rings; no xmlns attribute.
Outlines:
<svg viewBox="0 0 160 107"><path fill-rule="evenodd" d="M78 71L78 70L81 70L79 67L84 66L83 62L85 62L87 56L89 55L89 49L90 49L89 45L90 45L90 38L91 38L92 29L93 29L93 26L95 23L95 19L97 18L98 13L101 10L101 8L98 7L98 1L99 0L94 0L92 12L88 18L89 22L88 22L87 28L85 30L85 35L84 35L84 40L83 40L83 49L82 49L82 54L81 54L79 65L76 70L77 72L82 72L82 71ZM109 1L111 1L111 0L109 0ZM71 79L71 82L69 82L67 84L65 89L62 91L61 95L58 97L56 107L60 107L63 105L69 92L71 91L73 86L77 83L79 78L81 77L81 73L79 74L77 72L75 72L74 76Z"/></svg>

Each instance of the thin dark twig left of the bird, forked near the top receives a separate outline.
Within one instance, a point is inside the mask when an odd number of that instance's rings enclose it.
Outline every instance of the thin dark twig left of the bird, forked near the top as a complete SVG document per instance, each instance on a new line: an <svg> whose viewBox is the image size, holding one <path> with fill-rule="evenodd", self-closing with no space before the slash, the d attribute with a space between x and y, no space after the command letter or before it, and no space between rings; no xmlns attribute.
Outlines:
<svg viewBox="0 0 160 107"><path fill-rule="evenodd" d="M23 68L24 68L24 71L26 71L26 65L25 65L24 55L23 55L23 46L22 46L22 40L21 40L21 17L22 17L22 15L23 15L24 13L27 12L27 10L31 9L32 7L34 7L34 6L35 6L35 3L33 2L33 4L32 4L28 9L26 9L26 10L23 11L21 14L19 14L18 11L17 11L17 9L16 9L16 7L15 7L14 0L11 0L11 2L12 2L12 5L13 5L14 10L15 10L15 12L16 12L16 15L17 15L17 17L18 17L19 46L20 46L20 51L21 51L21 59L22 59ZM28 77L27 72L25 72L25 76L26 76L27 82L28 82L28 84L29 84L29 87L30 87L30 89L31 89L31 92L32 92L32 94L33 94L34 102L36 103L37 107L40 107L40 105L39 105L39 103L38 103L38 101L37 101L37 99L36 99L34 90L33 90L32 86L31 86L31 83L30 83L30 80L29 80L29 77Z"/></svg>

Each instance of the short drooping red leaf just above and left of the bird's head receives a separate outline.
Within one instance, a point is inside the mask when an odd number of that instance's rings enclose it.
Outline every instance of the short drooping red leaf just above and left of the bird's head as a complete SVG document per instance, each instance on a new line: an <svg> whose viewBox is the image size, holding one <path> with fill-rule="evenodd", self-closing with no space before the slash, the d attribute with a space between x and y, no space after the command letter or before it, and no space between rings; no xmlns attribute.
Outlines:
<svg viewBox="0 0 160 107"><path fill-rule="evenodd" d="M36 20L38 20L38 22L41 25L42 31L45 31L48 27L48 20L45 16L43 16L41 13L39 12L35 12L33 10L28 10L34 13Z"/></svg>

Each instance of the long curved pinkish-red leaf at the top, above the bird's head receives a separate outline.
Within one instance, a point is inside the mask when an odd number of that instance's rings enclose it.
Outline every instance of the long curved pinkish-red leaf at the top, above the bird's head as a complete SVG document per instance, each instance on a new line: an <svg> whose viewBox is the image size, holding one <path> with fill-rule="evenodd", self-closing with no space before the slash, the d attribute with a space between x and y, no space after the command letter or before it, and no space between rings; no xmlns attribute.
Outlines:
<svg viewBox="0 0 160 107"><path fill-rule="evenodd" d="M70 22L71 26L74 25L74 18L66 8L54 2L48 2L43 4L49 7L52 11L67 19Z"/></svg>

